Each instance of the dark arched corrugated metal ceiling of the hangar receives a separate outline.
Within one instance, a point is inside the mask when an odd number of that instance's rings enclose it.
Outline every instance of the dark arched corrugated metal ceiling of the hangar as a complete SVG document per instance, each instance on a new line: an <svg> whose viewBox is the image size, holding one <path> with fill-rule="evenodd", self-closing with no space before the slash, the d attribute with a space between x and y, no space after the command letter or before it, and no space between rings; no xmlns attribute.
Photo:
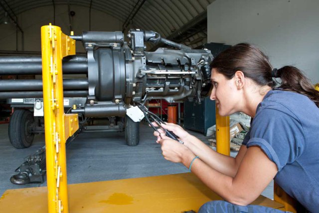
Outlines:
<svg viewBox="0 0 319 213"><path fill-rule="evenodd" d="M154 30L162 37L192 48L207 42L206 8L214 0L0 0L13 16L41 7L66 4L90 7L121 20L129 27ZM1 5L0 5L1 6ZM10 8L12 11L10 11ZM0 8L0 17L4 9ZM134 16L134 17L133 17ZM133 17L133 18L132 18Z"/></svg>

